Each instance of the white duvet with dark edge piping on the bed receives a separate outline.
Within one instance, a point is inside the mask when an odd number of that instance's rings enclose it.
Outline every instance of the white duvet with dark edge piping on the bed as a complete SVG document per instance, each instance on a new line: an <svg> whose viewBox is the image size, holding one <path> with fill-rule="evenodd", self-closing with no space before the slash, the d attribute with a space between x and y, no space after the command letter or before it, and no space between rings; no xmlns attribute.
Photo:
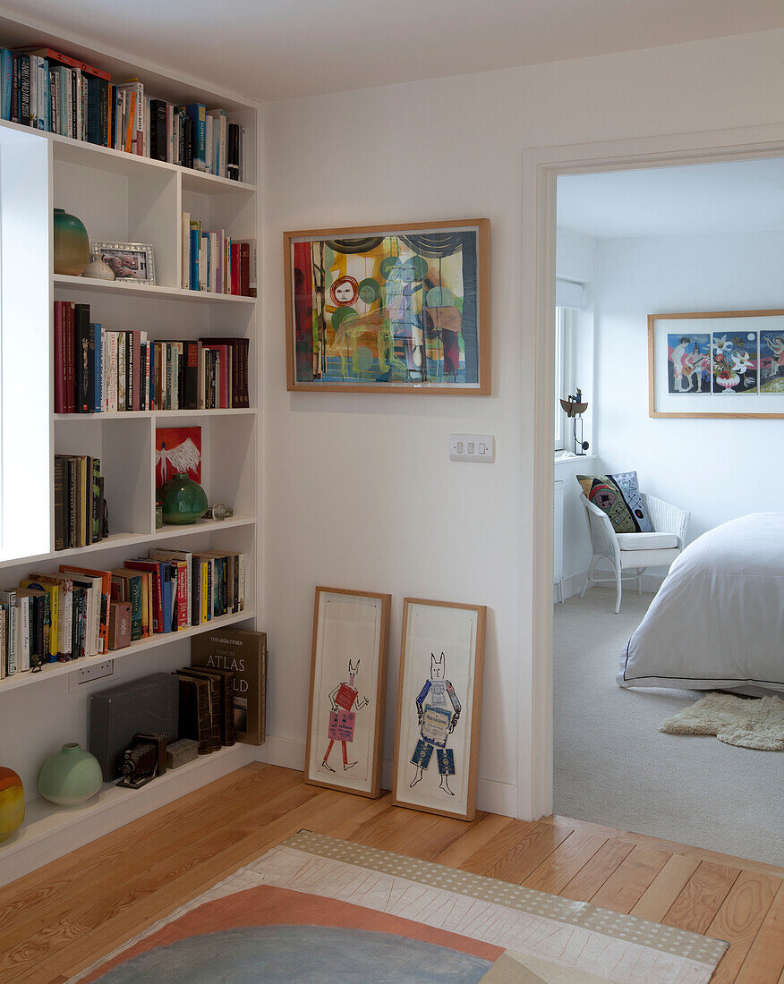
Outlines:
<svg viewBox="0 0 784 984"><path fill-rule="evenodd" d="M621 654L621 687L784 690L784 513L690 543Z"/></svg>

